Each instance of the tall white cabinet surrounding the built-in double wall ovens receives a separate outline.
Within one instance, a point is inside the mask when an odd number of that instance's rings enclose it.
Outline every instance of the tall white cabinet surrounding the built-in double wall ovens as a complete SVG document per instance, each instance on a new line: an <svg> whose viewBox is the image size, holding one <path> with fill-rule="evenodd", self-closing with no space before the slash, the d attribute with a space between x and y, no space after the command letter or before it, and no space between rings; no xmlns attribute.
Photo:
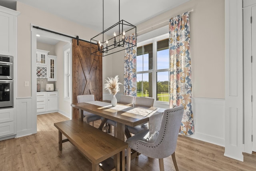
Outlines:
<svg viewBox="0 0 256 171"><path fill-rule="evenodd" d="M13 56L13 108L0 109L0 140L14 138L17 133L17 16L20 12L0 6L0 54Z"/></svg>

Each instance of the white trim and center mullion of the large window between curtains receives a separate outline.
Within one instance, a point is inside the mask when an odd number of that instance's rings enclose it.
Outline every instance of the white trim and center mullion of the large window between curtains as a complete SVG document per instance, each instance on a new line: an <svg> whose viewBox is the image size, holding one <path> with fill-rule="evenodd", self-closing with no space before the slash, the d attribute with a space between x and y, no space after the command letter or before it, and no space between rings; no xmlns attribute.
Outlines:
<svg viewBox="0 0 256 171"><path fill-rule="evenodd" d="M144 74L144 73L149 73L149 72L152 72L152 82L153 83L156 83L156 72L162 72L162 71L170 71L170 68L169 69L162 69L162 70L156 70L157 68L157 64L156 64L156 46L157 46L157 42L159 40L163 40L163 39L166 39L166 38L169 38L169 33L166 33L166 34L163 34L161 36L157 36L157 37L154 37L154 38L150 38L148 40L144 40L142 42L138 42L137 43L137 47L140 47L140 46L143 46L143 45L146 45L146 44L150 44L152 43L153 44L153 54L154 54L154 58L153 58L153 70L152 71L142 71L142 72L137 72L137 74ZM156 97L156 84L153 84L152 85L152 91L153 91L153 98L154 99L157 99ZM155 104L162 104L162 105L168 105L169 102L167 101L156 101L154 102Z"/></svg>

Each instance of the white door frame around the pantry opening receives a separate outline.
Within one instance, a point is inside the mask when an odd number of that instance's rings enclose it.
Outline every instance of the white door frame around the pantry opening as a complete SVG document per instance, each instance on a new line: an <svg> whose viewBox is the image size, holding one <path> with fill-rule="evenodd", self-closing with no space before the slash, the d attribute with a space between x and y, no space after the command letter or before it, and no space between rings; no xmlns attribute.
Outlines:
<svg viewBox="0 0 256 171"><path fill-rule="evenodd" d="M46 32L40 29L36 29L33 28L33 26L38 26L35 24L31 24L30 25L30 31L31 31L31 94L32 94L32 118L31 118L31 122L32 122L32 130L34 133L36 133L37 131L37 114L36 114L36 34L40 34L40 36L43 37L48 37L48 38L52 38L52 39L56 39L56 40L60 40L63 42L67 42L67 43L71 43L72 44L72 39L68 38L66 36L61 36L58 34L54 34L51 32ZM52 30L50 28L45 28L42 26L39 26L40 28L44 28L47 30L51 30L53 32L57 32L56 30ZM71 46L72 48L72 46ZM72 83L71 83L72 86ZM72 103L72 98L70 98L70 103ZM70 106L71 108L71 106ZM72 108L70 109L70 111L72 110ZM71 116L72 117L72 116Z"/></svg>

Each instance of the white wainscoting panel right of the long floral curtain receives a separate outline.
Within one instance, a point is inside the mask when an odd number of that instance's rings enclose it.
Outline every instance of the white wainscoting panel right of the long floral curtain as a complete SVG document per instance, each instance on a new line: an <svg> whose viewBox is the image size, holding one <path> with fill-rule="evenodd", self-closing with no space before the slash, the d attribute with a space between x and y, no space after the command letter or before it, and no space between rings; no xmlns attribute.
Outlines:
<svg viewBox="0 0 256 171"><path fill-rule="evenodd" d="M194 135L190 137L208 143L225 145L225 100L192 98Z"/></svg>

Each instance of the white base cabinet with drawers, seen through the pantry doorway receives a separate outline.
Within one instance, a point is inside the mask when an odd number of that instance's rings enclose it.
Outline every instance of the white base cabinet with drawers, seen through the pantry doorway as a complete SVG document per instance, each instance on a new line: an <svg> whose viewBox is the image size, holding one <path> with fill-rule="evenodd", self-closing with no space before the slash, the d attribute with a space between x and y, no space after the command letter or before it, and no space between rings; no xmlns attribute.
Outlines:
<svg viewBox="0 0 256 171"><path fill-rule="evenodd" d="M58 91L36 93L36 112L45 114L58 111Z"/></svg>

